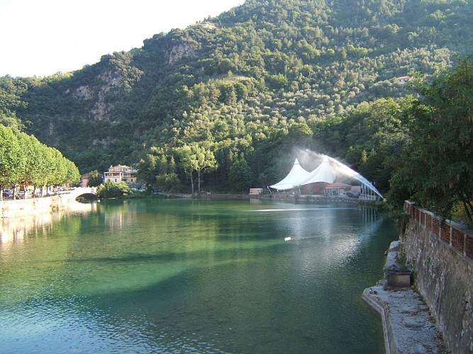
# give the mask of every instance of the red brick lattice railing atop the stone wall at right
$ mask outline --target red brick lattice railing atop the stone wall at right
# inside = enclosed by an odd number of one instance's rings
[[[416,219],[422,227],[430,230],[441,241],[473,261],[473,231],[448,219],[442,219],[433,212],[418,207],[413,202],[404,202],[404,211]]]

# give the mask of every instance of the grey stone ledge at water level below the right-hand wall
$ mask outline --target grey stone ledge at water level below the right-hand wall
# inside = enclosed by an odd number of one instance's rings
[[[391,243],[384,269],[397,266],[399,241]],[[381,314],[386,353],[450,353],[421,295],[411,287],[386,290],[384,281],[365,289],[363,299]]]

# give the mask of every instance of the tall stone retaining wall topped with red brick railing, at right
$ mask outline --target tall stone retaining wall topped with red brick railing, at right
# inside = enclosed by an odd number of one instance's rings
[[[413,267],[416,287],[452,353],[473,353],[472,236],[411,203],[406,202],[406,212],[411,218],[401,235],[402,252]],[[459,234],[463,241],[456,243]]]

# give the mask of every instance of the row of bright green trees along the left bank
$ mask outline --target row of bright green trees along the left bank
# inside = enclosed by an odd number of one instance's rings
[[[35,195],[38,188],[43,193],[50,186],[75,185],[79,181],[79,169],[57,149],[17,127],[0,125],[0,190],[33,186]]]

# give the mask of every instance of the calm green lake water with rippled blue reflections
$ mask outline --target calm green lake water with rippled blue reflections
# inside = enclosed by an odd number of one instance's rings
[[[4,220],[0,353],[384,353],[381,318],[361,295],[397,235],[373,209],[84,208]]]

